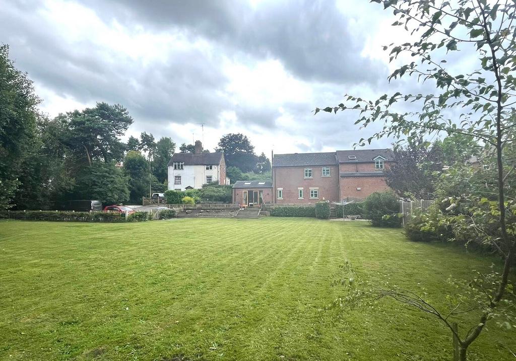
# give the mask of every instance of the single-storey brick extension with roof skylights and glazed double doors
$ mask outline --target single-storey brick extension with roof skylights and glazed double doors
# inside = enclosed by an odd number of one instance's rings
[[[244,207],[256,207],[272,203],[273,191],[270,180],[238,180],[233,185],[233,203]]]

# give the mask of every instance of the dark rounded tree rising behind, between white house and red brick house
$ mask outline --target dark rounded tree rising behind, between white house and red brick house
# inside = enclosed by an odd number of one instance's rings
[[[224,152],[228,167],[237,167],[243,172],[252,171],[256,167],[254,146],[247,136],[241,133],[227,134],[220,138],[218,145],[216,151]]]

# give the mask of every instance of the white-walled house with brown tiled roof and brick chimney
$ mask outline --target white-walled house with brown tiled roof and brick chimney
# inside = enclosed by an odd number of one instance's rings
[[[200,189],[203,184],[217,181],[229,184],[226,177],[224,153],[206,153],[202,143],[195,142],[193,153],[175,153],[168,162],[168,189]]]

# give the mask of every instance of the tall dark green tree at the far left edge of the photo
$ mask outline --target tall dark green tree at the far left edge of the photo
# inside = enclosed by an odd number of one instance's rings
[[[9,46],[0,44],[0,209],[9,207],[20,184],[39,102],[32,80],[14,67]]]

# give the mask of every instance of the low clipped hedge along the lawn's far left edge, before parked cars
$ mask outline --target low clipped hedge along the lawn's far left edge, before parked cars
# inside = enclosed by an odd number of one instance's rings
[[[22,221],[51,221],[51,222],[141,222],[152,219],[170,219],[176,215],[173,209],[155,212],[134,212],[127,216],[115,212],[59,212],[47,210],[7,210],[0,212],[0,219],[15,219]],[[157,216],[157,217],[156,217]]]

